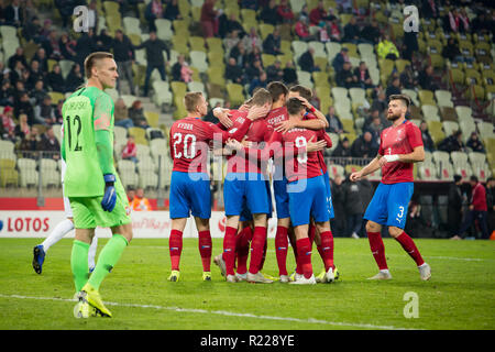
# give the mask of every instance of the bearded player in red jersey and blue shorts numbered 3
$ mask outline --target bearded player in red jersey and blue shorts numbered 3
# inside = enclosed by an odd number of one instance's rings
[[[413,257],[418,266],[421,279],[431,277],[430,266],[425,263],[411,238],[404,232],[407,208],[414,193],[414,163],[425,160],[421,132],[406,120],[410,98],[406,95],[393,95],[388,102],[387,120],[392,127],[382,131],[378,155],[363,169],[351,174],[355,182],[382,167],[382,183],[376,188],[364,219],[370,248],[380,272],[370,279],[391,279],[382,241],[382,226],[388,226],[388,233]]]

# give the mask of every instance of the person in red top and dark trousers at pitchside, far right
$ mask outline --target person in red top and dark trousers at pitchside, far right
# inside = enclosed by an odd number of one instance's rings
[[[451,238],[452,240],[461,240],[464,232],[474,223],[475,220],[477,220],[477,223],[482,230],[482,239],[487,240],[490,237],[486,224],[488,210],[486,204],[486,189],[474,175],[471,176],[470,184],[472,187],[470,212],[466,215],[459,233]]]

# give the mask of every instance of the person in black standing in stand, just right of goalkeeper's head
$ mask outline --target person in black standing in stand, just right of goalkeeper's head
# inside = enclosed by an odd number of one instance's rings
[[[122,79],[127,79],[131,95],[134,96],[134,78],[132,73],[132,63],[135,58],[134,47],[129,36],[124,35],[121,30],[116,31],[116,38],[112,42],[113,58],[117,63],[119,79],[117,80],[117,90],[122,91]]]

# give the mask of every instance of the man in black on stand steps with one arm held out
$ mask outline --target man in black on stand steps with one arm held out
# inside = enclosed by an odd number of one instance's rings
[[[166,80],[165,62],[163,57],[163,52],[167,53],[167,57],[170,57],[170,51],[168,45],[164,41],[156,36],[156,32],[150,32],[150,38],[141,45],[133,46],[134,50],[145,48],[146,50],[146,76],[144,78],[144,96],[147,97],[150,90],[150,78],[155,68],[160,72],[162,80]]]

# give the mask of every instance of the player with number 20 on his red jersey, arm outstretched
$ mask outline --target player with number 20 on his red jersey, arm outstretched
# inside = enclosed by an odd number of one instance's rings
[[[179,261],[183,249],[183,232],[189,215],[193,213],[199,233],[199,252],[204,266],[204,279],[210,280],[211,217],[210,180],[207,173],[209,144],[213,139],[224,143],[228,139],[241,140],[252,121],[260,119],[254,111],[248,114],[237,131],[223,131],[216,124],[200,118],[207,113],[208,103],[201,92],[188,92],[185,98],[188,117],[174,122],[170,128],[170,156],[174,167],[170,179],[172,230],[169,252],[172,282],[179,279]]]

